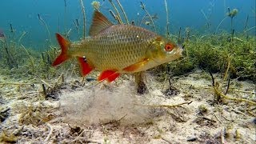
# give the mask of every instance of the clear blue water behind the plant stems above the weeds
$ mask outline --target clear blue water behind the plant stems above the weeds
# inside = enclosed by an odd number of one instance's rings
[[[191,30],[200,34],[214,34],[218,24],[226,17],[230,10],[238,9],[238,15],[234,17],[234,29],[236,33],[242,33],[249,16],[247,29],[255,26],[255,0],[166,0],[169,9],[170,33],[178,34],[179,27],[184,30],[190,27]],[[86,9],[86,31],[90,28],[91,16],[93,14],[92,0],[83,0]],[[110,16],[109,9],[113,10],[108,0],[103,2],[101,12],[114,22]],[[113,2],[116,2],[113,0]],[[130,21],[139,21],[145,15],[140,7],[140,0],[120,0],[126,10]],[[166,34],[166,9],[164,0],[142,0],[146,5],[146,10],[150,14],[158,14],[155,21],[158,34]],[[118,6],[118,5],[116,5]],[[26,35],[21,40],[24,46],[32,47],[36,50],[46,50],[50,45],[46,26],[38,19],[38,14],[46,22],[50,30],[52,44],[56,44],[54,34],[65,33],[70,30],[70,39],[78,41],[82,38],[82,12],[79,0],[1,0],[0,29],[4,31],[7,38],[20,38],[23,32]],[[209,18],[210,28],[206,26],[205,13]],[[121,10],[120,10],[121,13]],[[121,13],[122,14],[122,13]],[[80,24],[79,34],[75,29],[74,19],[78,19]],[[123,19],[124,20],[124,19]],[[14,28],[14,35],[10,33],[10,23]],[[144,25],[146,26],[146,25]],[[147,29],[152,28],[146,26]],[[226,18],[219,26],[218,33],[222,30],[230,31],[230,18]],[[255,28],[249,34],[255,34]],[[88,34],[87,34],[88,35]]]

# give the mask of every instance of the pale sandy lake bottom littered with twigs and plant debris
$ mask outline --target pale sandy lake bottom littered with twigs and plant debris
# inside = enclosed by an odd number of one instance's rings
[[[214,74],[218,90],[227,82]],[[17,143],[254,143],[255,84],[231,80],[216,100],[210,74],[195,70],[169,82],[146,74],[146,94],[134,78],[34,83],[0,78],[0,142]],[[42,83],[50,94],[42,94]],[[49,85],[49,86],[47,86]],[[94,86],[93,86],[94,85]],[[250,102],[240,101],[241,99]]]

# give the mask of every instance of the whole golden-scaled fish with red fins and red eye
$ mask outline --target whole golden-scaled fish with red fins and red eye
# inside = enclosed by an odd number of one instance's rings
[[[120,74],[145,71],[182,56],[182,47],[169,39],[139,26],[114,25],[97,10],[89,34],[74,43],[56,34],[61,53],[52,66],[75,57],[82,76],[99,70],[98,81],[113,82]]]

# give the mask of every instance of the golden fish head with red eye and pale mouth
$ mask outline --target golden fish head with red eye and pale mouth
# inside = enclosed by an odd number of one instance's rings
[[[158,66],[182,57],[182,50],[182,46],[178,46],[169,39],[157,37],[151,43],[146,55],[147,58],[154,61],[152,65]]]

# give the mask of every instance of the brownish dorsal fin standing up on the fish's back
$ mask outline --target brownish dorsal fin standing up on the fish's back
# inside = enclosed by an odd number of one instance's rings
[[[110,22],[102,13],[95,10],[93,22],[90,26],[90,36],[98,34],[100,31],[106,29],[109,26],[112,26],[113,23]]]

